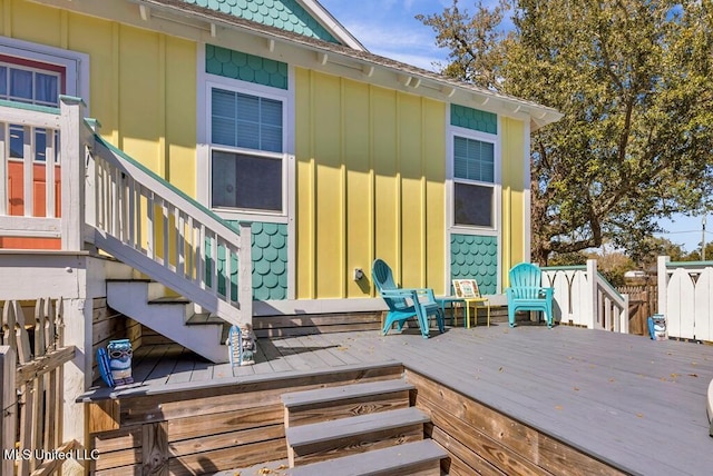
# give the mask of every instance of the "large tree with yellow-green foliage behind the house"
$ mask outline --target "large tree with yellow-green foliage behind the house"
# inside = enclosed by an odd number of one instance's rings
[[[451,50],[445,73],[565,115],[531,139],[533,259],[605,239],[647,255],[660,217],[711,192],[711,0],[514,3],[508,34],[505,3],[422,21]]]

